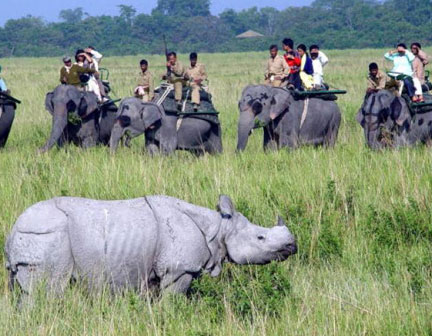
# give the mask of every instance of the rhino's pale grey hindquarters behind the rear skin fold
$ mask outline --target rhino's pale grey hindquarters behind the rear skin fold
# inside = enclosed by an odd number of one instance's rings
[[[23,214],[7,242],[11,289],[18,284],[31,295],[46,285],[49,292],[63,293],[74,266],[67,221],[52,203],[39,204]]]

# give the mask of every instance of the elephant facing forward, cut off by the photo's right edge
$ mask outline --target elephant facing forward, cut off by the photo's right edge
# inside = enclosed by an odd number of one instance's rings
[[[388,90],[365,97],[356,119],[372,149],[430,144],[432,139],[431,107],[413,113],[406,99]]]

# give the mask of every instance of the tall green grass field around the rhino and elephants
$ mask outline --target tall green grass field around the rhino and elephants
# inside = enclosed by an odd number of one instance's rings
[[[432,50],[429,50],[431,52]],[[260,267],[225,265],[204,276],[190,297],[161,301],[136,293],[112,297],[70,288],[15,308],[0,268],[4,335],[431,335],[432,157],[425,147],[372,152],[355,122],[370,61],[384,50],[331,51],[326,79],[349,94],[334,149],[264,153],[255,132],[235,154],[242,88],[262,79],[266,53],[202,55],[221,112],[224,154],[196,158],[144,153],[143,138],[110,156],[106,148],[70,146],[38,155],[51,119],[45,93],[57,85],[60,59],[2,59],[13,95],[22,99],[0,152],[0,246],[18,215],[60,195],[124,199],[166,194],[214,208],[228,194],[251,221],[272,226],[281,214],[299,253]],[[152,71],[163,58],[150,56]],[[186,59],[183,58],[185,61]],[[111,83],[130,96],[140,57],[108,58]],[[389,66],[389,65],[387,65]],[[4,264],[4,253],[0,253]]]

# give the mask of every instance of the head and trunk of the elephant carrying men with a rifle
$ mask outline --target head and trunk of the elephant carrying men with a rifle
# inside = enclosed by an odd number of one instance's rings
[[[116,151],[120,139],[127,132],[131,138],[144,134],[150,128],[158,128],[164,111],[153,103],[143,103],[138,98],[125,98],[119,106],[119,116],[111,132],[110,148]],[[160,127],[159,127],[160,128]]]

